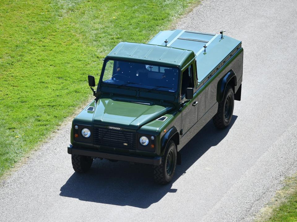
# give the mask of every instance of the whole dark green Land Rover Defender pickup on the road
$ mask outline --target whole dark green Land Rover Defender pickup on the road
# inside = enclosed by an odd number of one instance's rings
[[[170,30],[148,44],[121,42],[104,59],[96,97],[71,128],[73,169],[93,159],[153,165],[154,179],[172,180],[179,151],[213,119],[229,125],[240,100],[243,48],[228,36]]]

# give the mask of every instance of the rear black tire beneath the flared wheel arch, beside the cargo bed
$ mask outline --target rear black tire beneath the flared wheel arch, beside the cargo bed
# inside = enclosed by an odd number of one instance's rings
[[[229,126],[234,109],[234,92],[230,85],[226,86],[224,99],[219,103],[217,113],[213,117],[213,124],[218,129]]]

